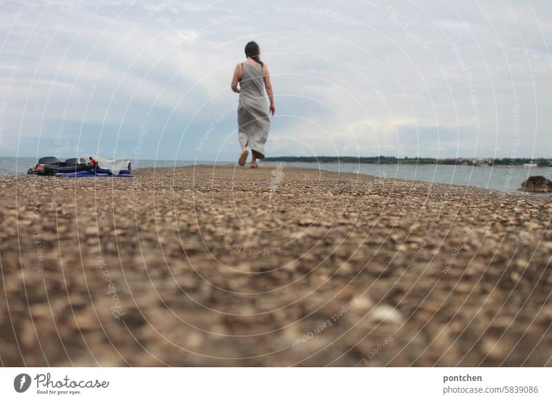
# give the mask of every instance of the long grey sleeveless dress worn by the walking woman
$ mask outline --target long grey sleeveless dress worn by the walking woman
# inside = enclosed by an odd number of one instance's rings
[[[263,68],[260,64],[242,63],[242,71],[237,108],[239,144],[250,147],[257,158],[264,158],[270,119],[264,96]]]

